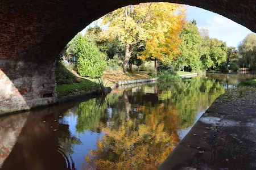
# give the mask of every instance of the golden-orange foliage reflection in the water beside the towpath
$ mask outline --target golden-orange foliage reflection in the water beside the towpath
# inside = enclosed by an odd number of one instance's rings
[[[84,169],[157,169],[179,140],[164,127],[163,122],[136,125],[129,120],[117,129],[104,128],[97,149],[85,157]]]

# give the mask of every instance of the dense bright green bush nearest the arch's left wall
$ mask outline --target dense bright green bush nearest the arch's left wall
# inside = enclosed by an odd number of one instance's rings
[[[87,37],[79,35],[75,48],[79,75],[99,78],[106,68],[106,56]]]

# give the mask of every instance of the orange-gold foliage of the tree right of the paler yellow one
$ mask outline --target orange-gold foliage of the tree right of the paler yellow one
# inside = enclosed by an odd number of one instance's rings
[[[184,24],[185,8],[174,4],[169,5],[169,3],[162,3],[154,8],[155,10],[152,12],[158,16],[158,19],[151,19],[146,48],[139,58],[151,58],[155,61],[159,59],[162,62],[170,63],[180,54],[181,39],[179,35]]]

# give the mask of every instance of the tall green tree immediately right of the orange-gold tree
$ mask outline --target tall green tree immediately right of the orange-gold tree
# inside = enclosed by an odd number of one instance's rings
[[[176,60],[179,69],[184,71],[184,67],[187,67],[189,70],[200,70],[202,65],[199,55],[201,37],[195,20],[185,22],[180,38],[182,39],[179,46],[181,54]]]

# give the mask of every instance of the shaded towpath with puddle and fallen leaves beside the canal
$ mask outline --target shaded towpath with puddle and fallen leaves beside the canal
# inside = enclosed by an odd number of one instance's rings
[[[218,97],[159,169],[256,169],[256,88]]]

